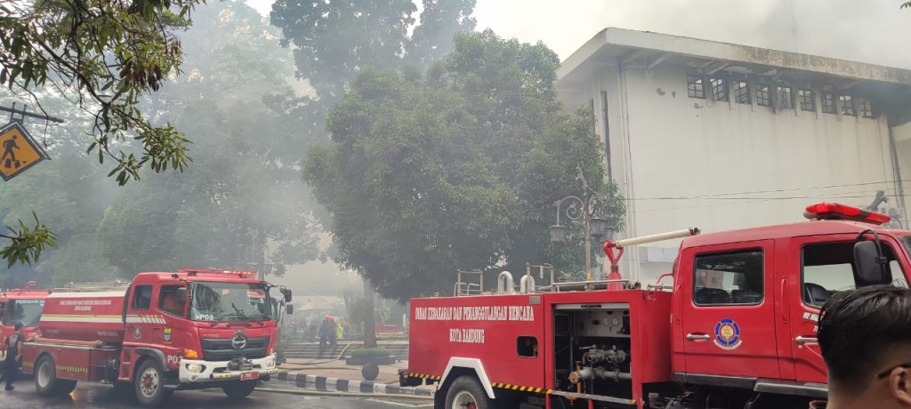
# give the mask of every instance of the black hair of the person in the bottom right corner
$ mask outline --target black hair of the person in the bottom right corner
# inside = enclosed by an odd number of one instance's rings
[[[835,294],[820,312],[818,339],[829,379],[848,393],[874,381],[896,345],[911,345],[911,290],[869,286]],[[831,386],[831,385],[830,385]]]

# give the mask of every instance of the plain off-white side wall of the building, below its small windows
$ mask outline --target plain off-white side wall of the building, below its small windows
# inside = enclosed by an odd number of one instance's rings
[[[885,116],[775,112],[691,98],[688,72],[604,66],[584,91],[561,94],[569,108],[594,99],[604,138],[601,91],[607,91],[611,174],[628,199],[621,237],[798,221],[808,204],[866,206],[877,189],[894,197]],[[818,90],[814,97],[819,111]],[[650,282],[670,271],[677,246],[679,240],[629,251],[621,271]]]

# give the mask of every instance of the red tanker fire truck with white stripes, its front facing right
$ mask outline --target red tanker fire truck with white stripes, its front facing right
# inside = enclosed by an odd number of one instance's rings
[[[158,406],[180,389],[251,394],[275,367],[278,326],[269,291],[245,271],[143,272],[126,291],[52,291],[41,337],[23,345],[39,394],[113,383]],[[278,287],[285,302],[291,291]]]

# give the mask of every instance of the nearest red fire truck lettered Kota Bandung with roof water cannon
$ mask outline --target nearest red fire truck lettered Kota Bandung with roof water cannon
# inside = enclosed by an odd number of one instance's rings
[[[625,247],[686,237],[673,271],[645,288],[523,277],[525,292],[510,282],[494,294],[412,300],[401,381],[437,383],[435,407],[445,409],[806,408],[827,395],[820,307],[835,291],[906,286],[911,231],[834,203],[804,215],[605,242],[616,271]]]

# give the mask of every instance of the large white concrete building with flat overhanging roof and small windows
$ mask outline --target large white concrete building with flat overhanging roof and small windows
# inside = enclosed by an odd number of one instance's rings
[[[819,201],[884,211],[911,198],[911,71],[608,28],[569,56],[558,90],[594,108],[635,237],[803,220]],[[906,215],[898,218],[908,228]],[[679,240],[624,255],[625,277],[670,271]]]

